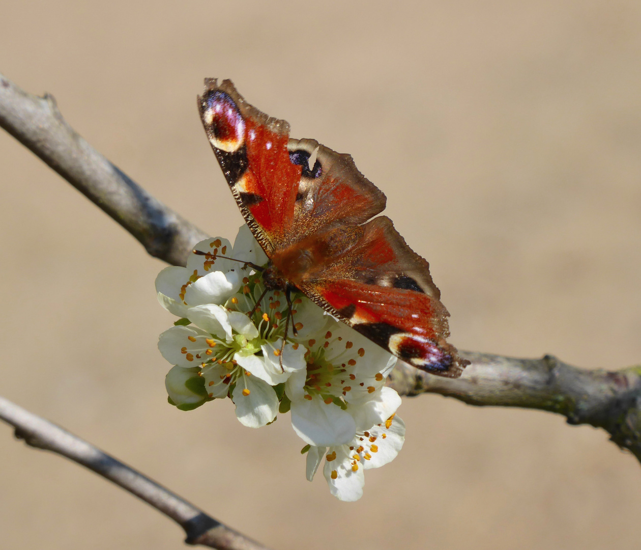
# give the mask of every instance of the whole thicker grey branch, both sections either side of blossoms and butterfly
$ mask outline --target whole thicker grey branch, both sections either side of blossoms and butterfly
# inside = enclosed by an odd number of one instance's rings
[[[184,265],[194,243],[205,237],[94,151],[63,121],[51,96],[31,96],[1,75],[0,125],[110,214],[150,254]],[[581,370],[552,356],[462,355],[472,364],[459,379],[429,375],[399,363],[388,384],[401,395],[440,393],[472,405],[560,413],[569,424],[605,429],[613,442],[641,461],[640,366],[607,372]]]

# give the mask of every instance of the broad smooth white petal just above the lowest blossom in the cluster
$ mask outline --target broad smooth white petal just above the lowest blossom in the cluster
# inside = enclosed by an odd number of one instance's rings
[[[333,403],[326,404],[320,397],[292,401],[291,410],[294,431],[310,445],[340,445],[351,441],[356,433],[352,416]]]

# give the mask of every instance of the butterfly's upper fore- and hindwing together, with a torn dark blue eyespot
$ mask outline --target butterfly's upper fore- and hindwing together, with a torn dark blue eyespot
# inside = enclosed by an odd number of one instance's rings
[[[231,81],[206,80],[198,108],[238,207],[268,256],[333,221],[363,223],[385,209],[385,195],[350,155],[289,139],[288,123],[249,105]]]

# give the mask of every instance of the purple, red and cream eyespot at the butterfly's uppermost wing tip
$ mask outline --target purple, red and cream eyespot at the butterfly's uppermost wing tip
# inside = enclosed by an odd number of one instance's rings
[[[203,98],[203,121],[212,145],[227,153],[245,142],[245,121],[233,99],[217,90]]]

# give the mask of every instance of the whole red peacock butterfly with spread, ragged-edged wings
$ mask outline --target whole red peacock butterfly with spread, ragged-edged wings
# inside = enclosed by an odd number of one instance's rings
[[[265,283],[299,289],[320,307],[417,368],[447,377],[467,361],[449,345],[447,310],[386,216],[385,195],[349,155],[290,139],[285,121],[252,107],[229,80],[198,99],[231,192],[269,257]]]

